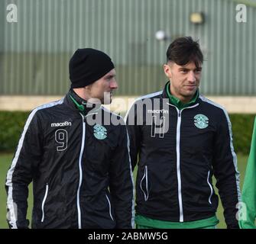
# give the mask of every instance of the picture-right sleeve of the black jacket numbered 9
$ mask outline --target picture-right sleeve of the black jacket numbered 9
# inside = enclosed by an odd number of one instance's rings
[[[134,226],[134,185],[128,152],[128,133],[121,127],[118,146],[112,155],[109,190],[115,210],[116,228],[131,229]]]

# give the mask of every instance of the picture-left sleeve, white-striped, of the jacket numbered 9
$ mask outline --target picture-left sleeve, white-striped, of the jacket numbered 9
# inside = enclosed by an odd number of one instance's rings
[[[41,134],[36,111],[32,111],[24,126],[15,156],[8,169],[5,189],[7,192],[7,221],[11,229],[28,228],[28,185],[33,170],[41,160]]]

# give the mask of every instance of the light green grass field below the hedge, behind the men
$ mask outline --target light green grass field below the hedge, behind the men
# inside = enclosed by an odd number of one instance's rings
[[[0,154],[0,229],[8,228],[8,225],[5,220],[5,217],[6,217],[5,177],[6,177],[6,172],[8,171],[9,165],[11,163],[11,158],[12,158],[11,154]],[[238,155],[238,170],[241,173],[240,187],[242,187],[242,182],[244,181],[247,159],[248,159],[248,156]],[[28,219],[31,219],[31,205],[32,205],[32,196],[31,196],[31,185],[30,185],[30,194],[29,194],[29,200],[28,200],[28,206],[29,206]],[[222,212],[223,212],[222,204],[219,204],[219,208],[217,212],[217,217],[219,218],[219,221],[220,221],[218,225],[219,229],[223,229],[226,227]]]

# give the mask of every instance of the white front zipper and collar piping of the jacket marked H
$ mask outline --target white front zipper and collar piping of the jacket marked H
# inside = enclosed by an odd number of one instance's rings
[[[169,103],[167,103],[169,104]],[[183,217],[183,201],[182,201],[182,191],[181,191],[181,175],[180,175],[180,124],[181,124],[181,112],[187,108],[195,108],[199,104],[195,104],[191,107],[183,108],[179,110],[173,104],[169,104],[170,106],[176,108],[178,117],[177,117],[177,132],[176,132],[176,153],[177,153],[177,181],[178,181],[178,199],[179,199],[179,207],[180,207],[180,222],[184,222]]]

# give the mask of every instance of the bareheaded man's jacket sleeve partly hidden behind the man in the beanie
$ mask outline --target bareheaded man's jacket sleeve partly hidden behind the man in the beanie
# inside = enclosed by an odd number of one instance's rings
[[[134,103],[125,116],[125,123],[130,140],[131,166],[134,170],[138,162],[138,154],[141,148],[141,127],[137,116],[137,104]]]

